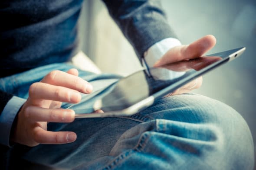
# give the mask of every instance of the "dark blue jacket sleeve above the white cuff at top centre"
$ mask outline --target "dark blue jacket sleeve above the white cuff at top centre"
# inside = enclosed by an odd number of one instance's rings
[[[176,38],[160,0],[103,0],[138,57],[164,38]]]

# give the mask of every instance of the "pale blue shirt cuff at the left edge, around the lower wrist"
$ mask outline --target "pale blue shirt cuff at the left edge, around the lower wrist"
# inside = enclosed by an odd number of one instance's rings
[[[25,102],[26,99],[13,96],[4,107],[0,115],[0,144],[10,147],[10,133],[13,121]]]

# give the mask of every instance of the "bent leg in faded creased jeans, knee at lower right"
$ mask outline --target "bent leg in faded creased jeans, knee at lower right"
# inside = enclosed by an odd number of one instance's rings
[[[199,95],[172,96],[135,115],[140,116],[149,121],[121,136],[109,169],[253,169],[249,128],[223,103]]]

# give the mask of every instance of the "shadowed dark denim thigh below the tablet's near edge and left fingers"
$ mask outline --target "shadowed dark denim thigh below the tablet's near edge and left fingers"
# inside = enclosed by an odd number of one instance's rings
[[[108,156],[116,141],[128,129],[140,122],[122,118],[76,119],[72,123],[49,123],[49,131],[72,131],[77,139],[69,144],[39,144],[30,148],[23,158],[59,168],[74,168],[80,164]]]

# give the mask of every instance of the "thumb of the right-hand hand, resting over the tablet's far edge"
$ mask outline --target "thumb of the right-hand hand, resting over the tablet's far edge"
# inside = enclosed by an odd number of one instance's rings
[[[216,38],[213,35],[206,35],[190,45],[176,46],[167,51],[167,53],[154,64],[154,67],[200,57],[213,48],[215,44]]]

